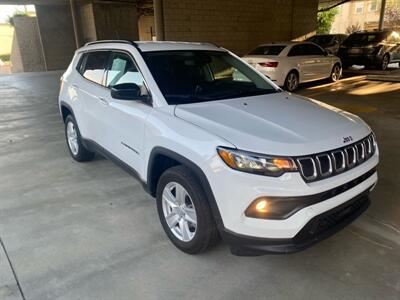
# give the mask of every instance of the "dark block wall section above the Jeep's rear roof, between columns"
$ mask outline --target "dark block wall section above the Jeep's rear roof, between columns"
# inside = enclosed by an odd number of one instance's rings
[[[138,12],[130,4],[93,3],[93,16],[98,40],[138,40]]]

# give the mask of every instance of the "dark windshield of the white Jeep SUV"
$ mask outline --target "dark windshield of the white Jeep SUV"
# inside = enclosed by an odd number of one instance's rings
[[[168,104],[276,93],[241,60],[223,51],[154,51],[143,57]]]

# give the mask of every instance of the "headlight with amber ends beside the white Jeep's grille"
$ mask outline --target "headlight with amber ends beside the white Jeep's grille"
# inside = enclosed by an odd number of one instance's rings
[[[275,157],[247,151],[217,148],[219,156],[232,169],[266,176],[281,176],[297,170],[296,164],[288,157]]]

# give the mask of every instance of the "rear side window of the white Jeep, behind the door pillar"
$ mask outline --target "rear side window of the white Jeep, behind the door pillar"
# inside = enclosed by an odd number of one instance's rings
[[[108,63],[110,52],[98,51],[86,53],[84,66],[82,65],[81,74],[86,79],[102,84],[103,74]]]

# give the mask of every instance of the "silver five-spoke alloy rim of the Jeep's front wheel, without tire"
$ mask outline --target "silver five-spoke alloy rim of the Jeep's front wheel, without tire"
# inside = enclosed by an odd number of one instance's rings
[[[162,210],[171,232],[180,241],[190,242],[197,229],[197,215],[186,189],[177,182],[168,183],[162,193]]]

